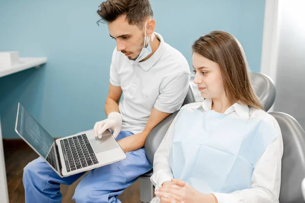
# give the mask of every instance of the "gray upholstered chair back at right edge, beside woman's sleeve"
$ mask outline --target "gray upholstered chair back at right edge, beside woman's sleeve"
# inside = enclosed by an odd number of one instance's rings
[[[269,114],[277,119],[284,143],[280,202],[305,202],[301,190],[301,182],[305,177],[305,131],[288,114],[280,112]]]

